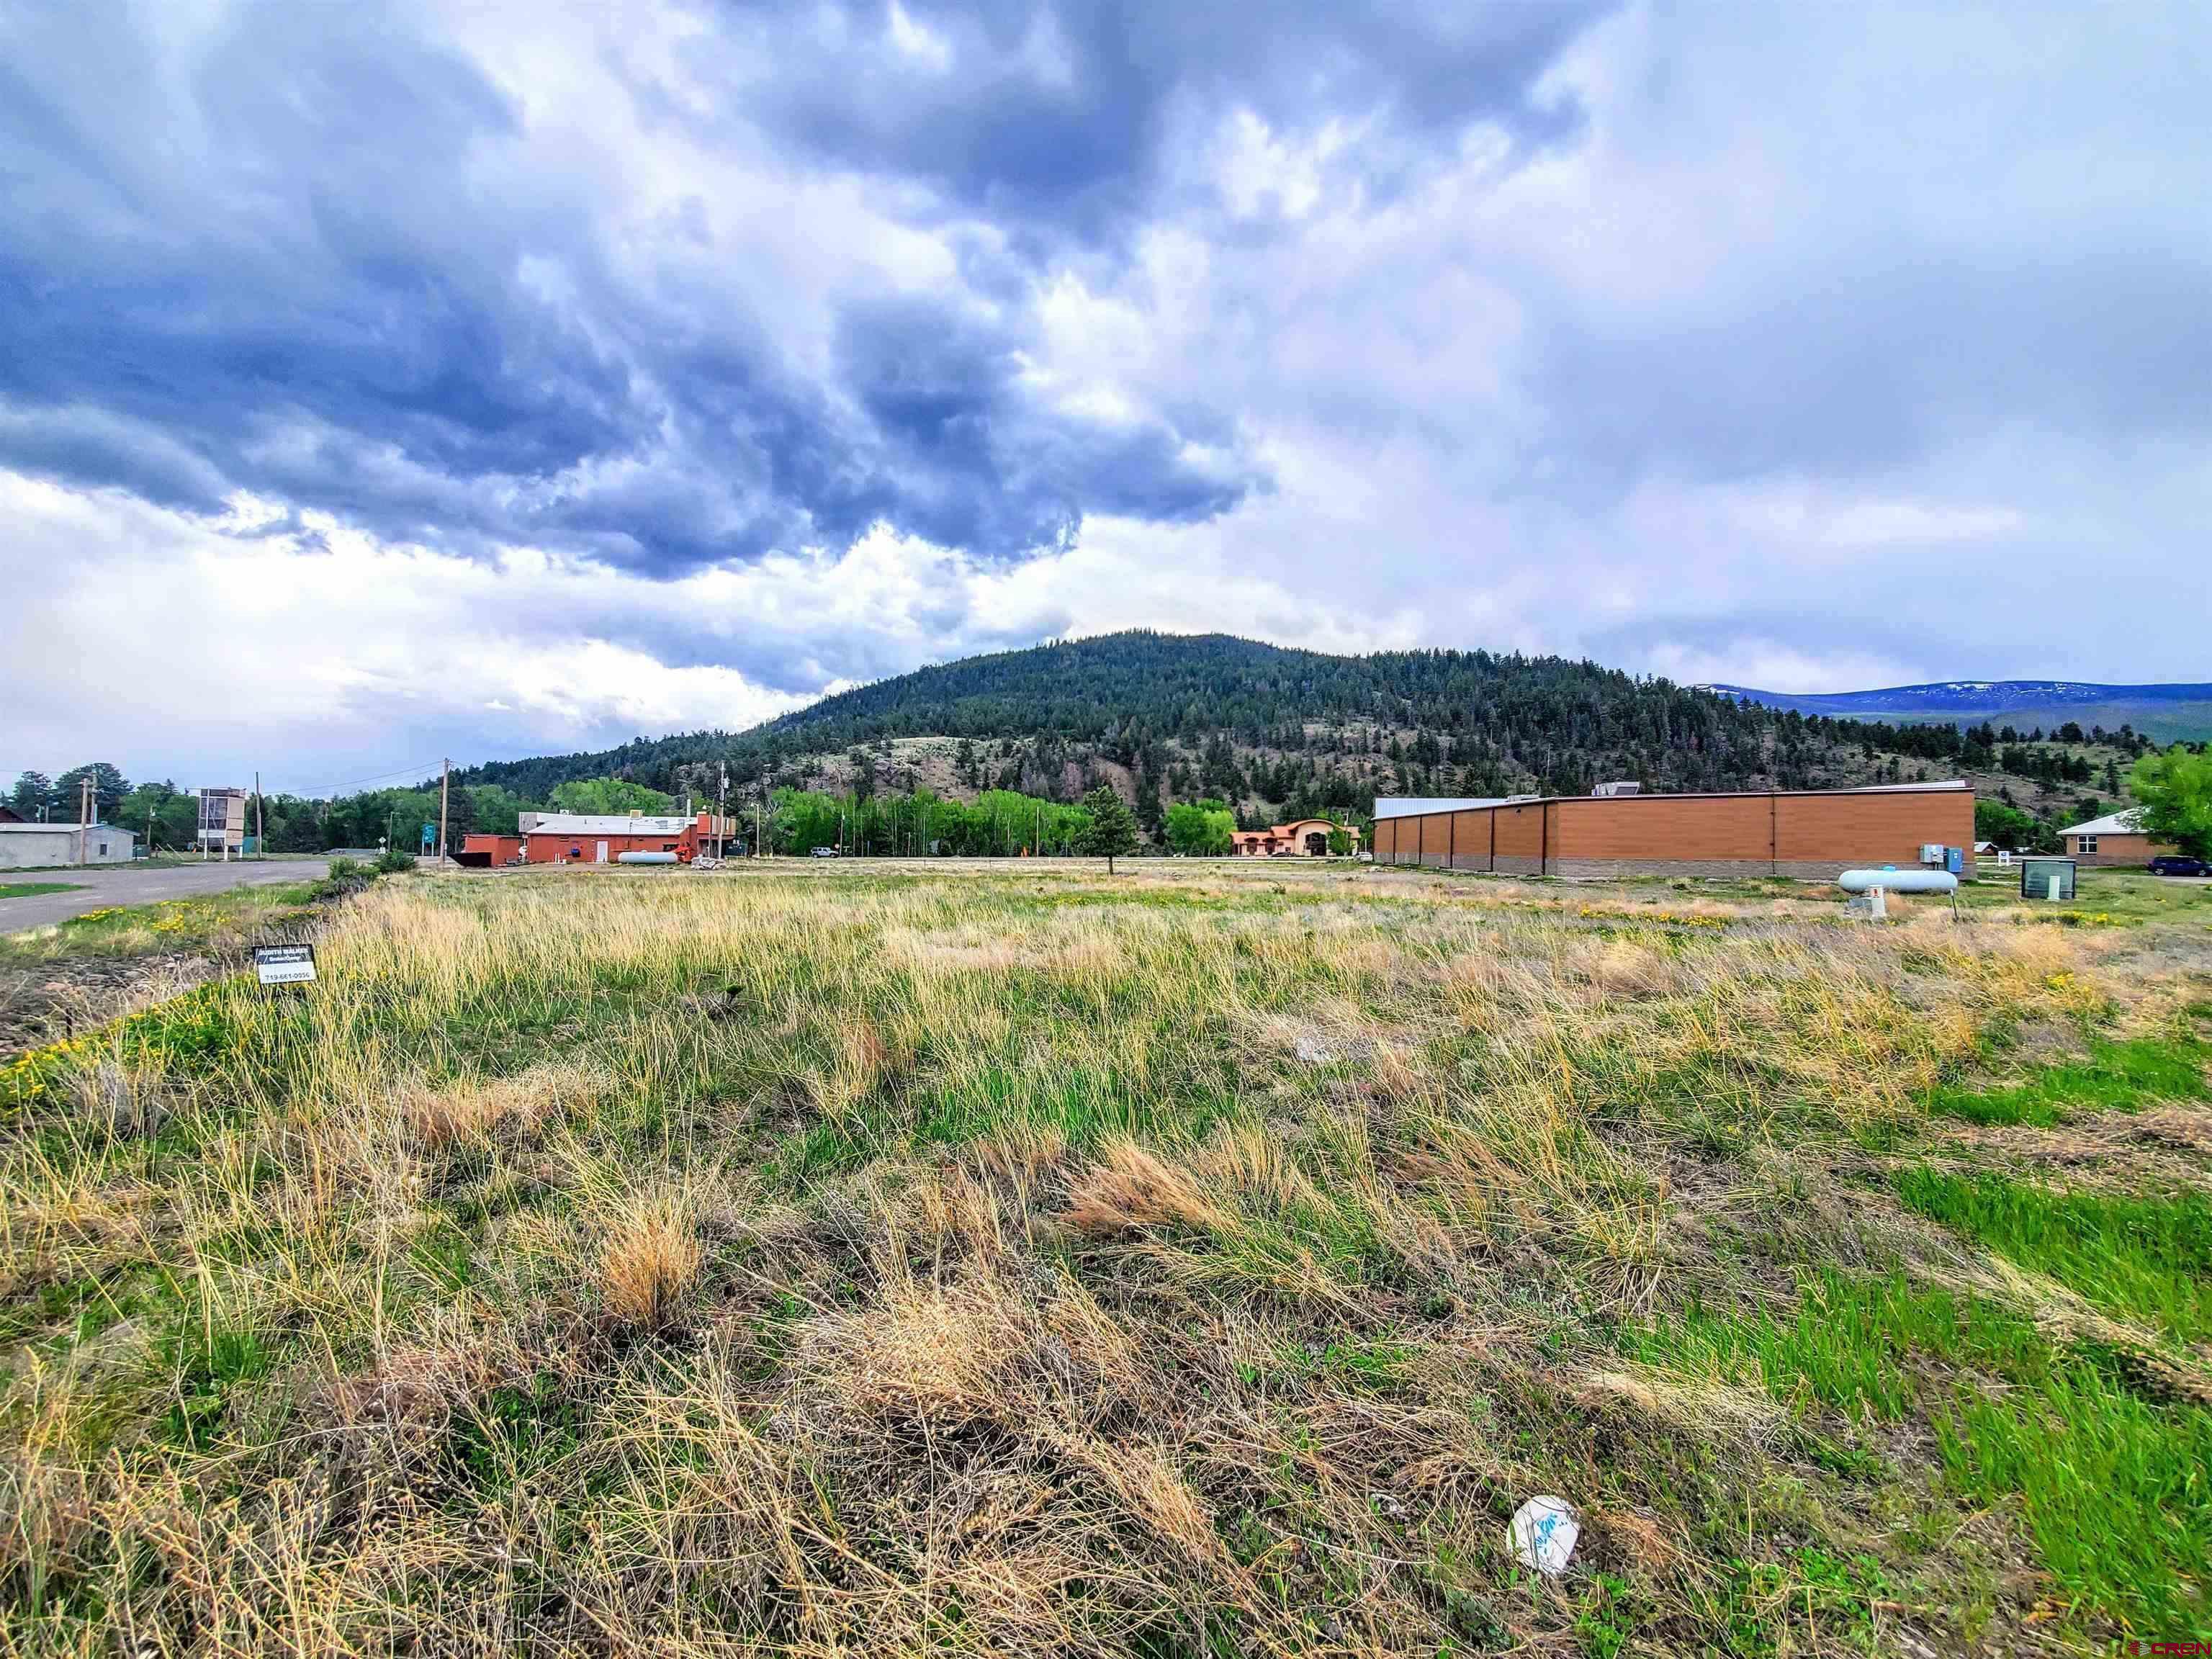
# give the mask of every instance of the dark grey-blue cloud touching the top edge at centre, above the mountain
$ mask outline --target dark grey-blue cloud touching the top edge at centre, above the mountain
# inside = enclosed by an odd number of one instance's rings
[[[1164,150],[1188,137],[1179,119],[1197,108],[1245,106],[1287,126],[1376,115],[1447,144],[1478,117],[1528,142],[1559,137],[1575,111],[1537,104],[1531,88],[1608,9],[1593,0],[902,7],[909,33],[933,51],[869,29],[860,20],[872,9],[823,29],[821,7],[790,0],[745,9],[776,64],[770,80],[745,84],[745,102],[812,153],[929,179],[958,210],[1046,239],[1097,237],[1150,206]]]

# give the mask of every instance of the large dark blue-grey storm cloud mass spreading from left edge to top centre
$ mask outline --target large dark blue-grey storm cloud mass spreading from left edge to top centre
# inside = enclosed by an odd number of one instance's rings
[[[816,7],[732,9],[706,13],[675,82],[626,71],[646,126],[734,144],[743,124],[794,166],[894,179],[909,195],[891,221],[995,226],[956,234],[953,290],[814,296],[814,356],[739,279],[717,294],[641,274],[617,246],[630,228],[533,153],[533,88],[495,84],[429,20],[243,4],[179,40],[119,4],[18,13],[0,38],[0,462],[648,575],[838,546],[878,520],[1000,560],[1066,546],[1086,513],[1225,511],[1265,487],[1234,409],[1104,420],[1024,378],[1044,250],[1121,250],[1166,188],[1177,111],[1551,131],[1528,88],[1588,13],[1073,11],[916,7],[900,27],[949,51],[931,66],[880,9],[836,27]],[[717,230],[692,197],[666,234]],[[721,234],[743,259],[752,228]]]

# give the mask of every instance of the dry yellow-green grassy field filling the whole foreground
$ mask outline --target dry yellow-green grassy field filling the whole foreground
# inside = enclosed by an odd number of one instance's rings
[[[307,993],[0,1062],[9,1652],[2212,1632],[2208,889],[779,863],[327,916]]]

